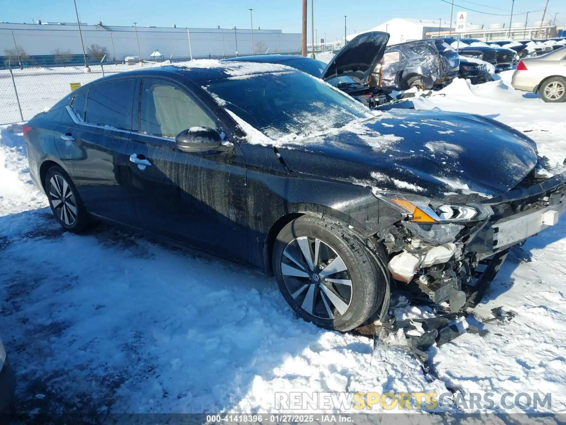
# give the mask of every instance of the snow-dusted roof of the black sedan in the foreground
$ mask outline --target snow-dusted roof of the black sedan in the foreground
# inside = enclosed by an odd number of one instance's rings
[[[104,80],[124,78],[125,76],[170,76],[181,75],[195,83],[208,80],[228,78],[230,76],[245,76],[255,74],[268,74],[281,71],[297,71],[289,66],[278,63],[255,63],[238,61],[218,61],[217,59],[198,59],[189,62],[178,62],[166,66],[153,66],[145,69],[127,71],[114,74]],[[100,82],[96,80],[96,82]]]

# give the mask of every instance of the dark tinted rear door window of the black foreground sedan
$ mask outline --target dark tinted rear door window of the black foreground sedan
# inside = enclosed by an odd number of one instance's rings
[[[135,80],[109,81],[88,91],[85,121],[130,130]]]

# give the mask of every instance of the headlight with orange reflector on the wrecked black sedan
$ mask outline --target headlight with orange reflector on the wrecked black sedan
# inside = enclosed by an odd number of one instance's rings
[[[480,203],[453,205],[451,203],[434,201],[423,196],[397,192],[380,192],[378,190],[374,190],[374,195],[396,205],[408,215],[409,221],[413,223],[435,224],[480,221],[493,214],[490,206]]]

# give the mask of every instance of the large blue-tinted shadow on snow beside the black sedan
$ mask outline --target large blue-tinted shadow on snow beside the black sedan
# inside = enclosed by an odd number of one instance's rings
[[[272,380],[308,385],[308,354],[371,352],[337,333],[320,342],[328,332],[256,270],[102,224],[61,232],[49,214],[0,217],[0,235],[21,228],[0,239],[0,316],[22,422],[217,413],[248,393],[241,408],[257,411],[273,403]]]

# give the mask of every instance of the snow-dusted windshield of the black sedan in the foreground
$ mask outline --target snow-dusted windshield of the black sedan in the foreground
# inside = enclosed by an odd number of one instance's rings
[[[274,140],[341,128],[373,116],[351,97],[295,71],[216,79],[203,87],[230,112]]]

